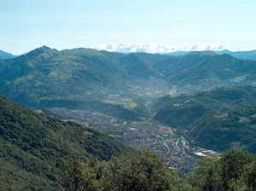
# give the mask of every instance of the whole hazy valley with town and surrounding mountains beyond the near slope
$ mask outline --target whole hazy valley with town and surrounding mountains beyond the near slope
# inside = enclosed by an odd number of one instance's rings
[[[182,173],[202,155],[255,151],[254,60],[212,51],[173,56],[43,46],[2,60],[0,68],[3,96],[151,148]]]

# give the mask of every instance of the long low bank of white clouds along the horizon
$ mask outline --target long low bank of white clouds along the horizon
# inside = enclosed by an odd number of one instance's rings
[[[230,49],[228,45],[222,43],[183,44],[173,45],[167,43],[108,43],[91,46],[92,49],[105,49],[113,52],[148,52],[148,53],[169,53],[176,51],[201,51],[201,50],[224,50]]]

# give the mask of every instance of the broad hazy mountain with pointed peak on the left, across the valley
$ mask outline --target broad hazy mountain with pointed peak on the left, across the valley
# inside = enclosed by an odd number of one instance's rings
[[[38,107],[45,100],[99,100],[106,96],[103,89],[116,94],[158,78],[151,65],[166,57],[43,46],[15,59],[0,60],[0,94],[26,107]]]

